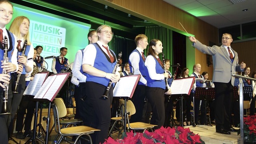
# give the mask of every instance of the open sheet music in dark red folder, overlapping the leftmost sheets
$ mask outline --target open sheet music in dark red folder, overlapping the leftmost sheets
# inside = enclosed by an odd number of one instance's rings
[[[46,79],[34,99],[48,99],[52,101],[54,96],[57,95],[58,91],[64,84],[64,80],[69,76],[70,73],[62,73],[60,75],[51,75]]]

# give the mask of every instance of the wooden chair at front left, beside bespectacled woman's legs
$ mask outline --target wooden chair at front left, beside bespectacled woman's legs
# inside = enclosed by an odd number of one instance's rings
[[[57,141],[57,144],[60,144],[60,142],[62,140],[65,140],[66,142],[69,142],[70,144],[72,144],[72,142],[66,140],[66,136],[78,136],[78,138],[76,139],[75,143],[78,141],[78,139],[83,136],[86,135],[88,136],[88,141],[90,141],[90,144],[92,144],[92,138],[90,137],[89,134],[93,134],[95,131],[100,131],[96,128],[91,128],[88,126],[74,126],[74,127],[65,127],[63,128],[60,127],[60,118],[66,116],[67,111],[66,111],[66,107],[64,103],[60,103],[60,99],[55,99],[54,103],[52,104],[52,108],[53,108],[53,115],[54,115],[54,128],[55,131],[60,134],[60,138]],[[61,105],[60,105],[61,104]],[[63,105],[64,107],[63,107]],[[65,137],[65,138],[64,138]]]

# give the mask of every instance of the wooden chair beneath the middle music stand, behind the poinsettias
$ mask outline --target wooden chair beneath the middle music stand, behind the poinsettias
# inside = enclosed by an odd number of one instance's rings
[[[143,130],[143,133],[145,132],[145,130],[148,129],[148,130],[151,130],[153,132],[152,128],[154,128],[154,126],[157,126],[157,125],[147,124],[147,123],[144,123],[144,122],[132,122],[132,123],[130,123],[129,115],[135,114],[135,112],[136,112],[136,109],[135,109],[134,104],[132,103],[132,101],[128,100],[126,102],[126,110],[124,109],[124,107],[125,107],[124,106],[124,100],[120,99],[119,102],[120,102],[120,105],[122,107],[122,120],[123,121],[124,121],[124,114],[126,114],[126,120],[127,120],[126,127],[127,127],[127,129]]]

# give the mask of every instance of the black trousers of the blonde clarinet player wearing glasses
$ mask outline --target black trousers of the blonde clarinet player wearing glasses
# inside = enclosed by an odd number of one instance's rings
[[[105,139],[108,138],[111,118],[110,105],[113,99],[113,87],[110,87],[108,99],[102,98],[102,95],[106,89],[104,85],[87,81],[85,83],[85,87],[86,99],[83,105],[85,105],[87,108],[83,108],[84,117],[81,114],[81,110],[80,115],[83,118],[84,125],[100,129],[100,131],[92,134],[92,142],[94,144],[99,144],[100,142],[103,143]]]

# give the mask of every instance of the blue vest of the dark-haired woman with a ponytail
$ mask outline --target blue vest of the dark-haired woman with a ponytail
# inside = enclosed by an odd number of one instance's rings
[[[164,69],[162,68],[162,66],[160,65],[160,63],[157,61],[157,59],[155,58],[156,61],[156,73],[158,74],[163,74],[164,73]],[[165,89],[165,82],[164,79],[162,80],[154,80],[151,79],[148,73],[148,69],[147,70],[147,75],[146,75],[146,80],[147,80],[147,86],[148,87],[159,87],[161,89]]]

